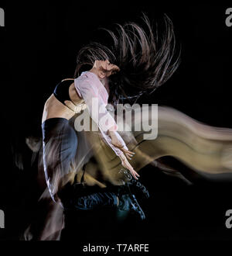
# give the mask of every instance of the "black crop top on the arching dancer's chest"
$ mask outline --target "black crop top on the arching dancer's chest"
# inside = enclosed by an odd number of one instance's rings
[[[63,80],[60,81],[56,88],[54,89],[53,95],[58,99],[61,103],[65,105],[66,100],[70,100],[69,88],[72,85],[73,80]]]

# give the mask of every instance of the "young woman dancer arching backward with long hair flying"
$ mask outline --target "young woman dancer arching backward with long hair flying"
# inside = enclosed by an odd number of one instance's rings
[[[99,145],[101,141],[104,141],[106,147],[110,146],[107,150],[114,152],[115,161],[120,159],[121,168],[128,169],[133,178],[138,179],[137,171],[130,164],[135,153],[128,150],[106,106],[107,103],[117,106],[118,103],[124,103],[127,100],[136,101],[139,96],[153,92],[176,71],[179,65],[179,55],[176,55],[172,22],[167,16],[164,16],[163,20],[164,29],[159,37],[154,35],[146,16],[143,16],[145,29],[134,22],[127,22],[124,26],[118,25],[117,33],[107,30],[113,40],[111,47],[101,43],[90,43],[80,49],[74,78],[61,81],[56,86],[53,95],[46,101],[42,119],[43,169],[49,195],[55,203],[51,207],[51,212],[57,213],[56,209],[59,207],[57,202],[62,202],[64,208],[74,207],[75,209],[94,209],[98,206],[118,206],[125,209],[125,206],[131,205],[140,216],[144,216],[135,196],[130,199],[123,192],[121,196],[111,191],[96,192],[84,198],[80,195],[80,198],[78,195],[73,198],[73,195],[67,192],[69,191],[67,188],[72,187],[70,183],[73,179],[70,174],[77,173],[78,175],[80,163],[77,159],[82,150],[77,139],[78,132],[70,126],[70,119],[87,108],[101,131],[101,134],[98,134]],[[97,112],[94,111],[96,109],[92,109],[93,99],[97,99],[98,102]],[[101,122],[102,119],[107,119],[107,125]],[[92,142],[94,143],[94,139]],[[129,144],[128,141],[127,143]],[[107,150],[102,151],[100,157],[98,152],[98,159],[104,157]],[[104,159],[107,159],[107,156]],[[104,164],[109,163],[110,161],[105,163],[103,161],[100,166],[104,167]],[[107,168],[108,173],[111,173],[114,168],[115,166]],[[113,177],[114,172],[112,171],[111,174]],[[127,182],[128,174],[122,175],[125,176],[122,180]],[[111,182],[110,176],[106,182],[115,185]],[[96,179],[92,178],[91,181],[93,185]],[[100,185],[101,182],[97,184]],[[137,187],[147,194],[141,184],[138,183]],[[67,199],[69,197],[71,199]],[[58,214],[53,214],[53,220],[51,216],[49,214],[50,219],[46,220],[47,223],[53,223]],[[60,220],[60,217],[58,219]],[[52,234],[57,234],[61,229],[60,226],[55,228],[56,225],[46,224],[44,226],[46,227],[40,239],[44,237],[55,239],[57,236]],[[49,230],[49,227],[53,227],[52,230]]]

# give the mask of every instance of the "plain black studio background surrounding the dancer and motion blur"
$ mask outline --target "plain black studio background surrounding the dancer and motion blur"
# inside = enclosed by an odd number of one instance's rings
[[[33,175],[13,167],[12,138],[39,133],[43,104],[58,81],[73,76],[77,52],[97,27],[137,21],[142,11],[156,19],[165,12],[182,45],[182,62],[173,77],[141,101],[172,106],[212,126],[232,128],[232,27],[225,24],[230,5],[135,2],[0,2],[1,148],[0,209],[5,210],[2,240],[19,239],[36,195]],[[141,181],[151,198],[142,203],[145,222],[131,217],[112,229],[102,221],[98,240],[230,240],[225,212],[232,207],[232,178],[206,178],[187,186],[145,168]],[[30,202],[30,203],[29,203]],[[91,231],[90,231],[91,232]],[[68,230],[67,230],[68,233]],[[81,236],[78,228],[73,236]],[[90,237],[93,237],[90,235]],[[83,240],[88,241],[87,234]]]

